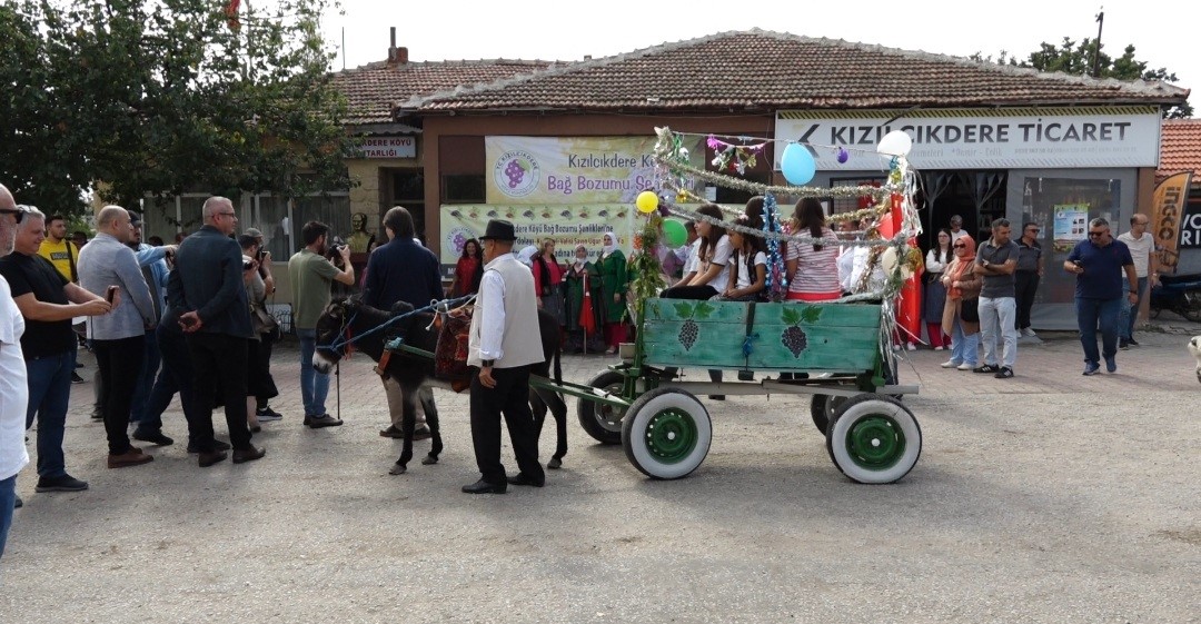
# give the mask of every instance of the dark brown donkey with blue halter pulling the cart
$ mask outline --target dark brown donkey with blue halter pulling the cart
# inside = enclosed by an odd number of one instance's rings
[[[339,299],[330,303],[317,320],[317,352],[313,355],[312,366],[321,373],[329,373],[346,355],[347,345],[334,347],[336,343],[351,340],[353,345],[366,353],[377,363],[384,353],[386,343],[400,335],[405,344],[416,349],[434,352],[437,347],[438,335],[434,329],[426,329],[434,320],[431,313],[414,314],[407,319],[398,321],[382,332],[363,335],[364,333],[380,327],[390,319],[413,310],[413,307],[398,302],[392,313],[372,308],[359,301],[358,297]],[[542,346],[545,361],[534,364],[532,373],[549,378],[551,362],[555,367],[555,381],[562,379],[560,362],[561,334],[558,322],[554,316],[538,310],[538,326],[542,333]],[[355,338],[362,337],[362,338]],[[413,429],[417,424],[417,391],[422,385],[434,381],[431,385],[449,387],[444,382],[434,380],[434,359],[422,357],[406,351],[392,353],[387,359],[383,374],[394,379],[404,392],[401,433],[404,434],[404,447],[400,458],[392,469],[392,474],[400,475],[407,470],[408,462],[413,458]],[[548,468],[562,466],[563,456],[567,454],[567,405],[557,392],[546,390],[533,390],[530,393],[534,414],[537,430],[542,432],[549,408],[556,421],[557,445],[555,454],[546,464]],[[442,452],[442,432],[438,424],[437,409],[432,400],[423,405],[425,418],[430,427],[431,447],[428,456],[422,459],[423,464],[436,464],[438,454]]]

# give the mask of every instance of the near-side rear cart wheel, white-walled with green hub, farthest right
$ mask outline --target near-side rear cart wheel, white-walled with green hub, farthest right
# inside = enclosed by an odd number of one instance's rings
[[[830,421],[826,451],[842,474],[860,483],[891,483],[921,454],[921,428],[909,408],[879,394],[843,403]]]

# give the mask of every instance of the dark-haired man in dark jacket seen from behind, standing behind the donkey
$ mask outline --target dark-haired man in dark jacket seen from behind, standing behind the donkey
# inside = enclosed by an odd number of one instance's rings
[[[363,303],[381,310],[390,310],[401,301],[413,308],[424,308],[431,299],[441,299],[443,290],[438,258],[413,239],[413,215],[398,206],[384,214],[383,226],[389,242],[376,248],[368,258]],[[400,427],[404,418],[404,393],[400,384],[384,378],[383,388],[388,396],[392,424],[381,430],[380,435],[402,438]],[[414,440],[430,436],[430,429],[425,426],[425,405],[434,409],[434,393],[428,387],[418,392]]]

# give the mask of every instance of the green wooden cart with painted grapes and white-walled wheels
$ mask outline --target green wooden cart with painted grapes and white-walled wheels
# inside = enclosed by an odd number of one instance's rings
[[[649,299],[633,353],[586,386],[549,384],[579,398],[580,424],[652,479],[680,479],[709,453],[705,394],[811,394],[811,417],[835,465],[864,483],[890,483],[921,454],[921,429],[890,384],[879,303],[740,303]],[[680,368],[737,372],[739,381],[683,381]],[[805,373],[775,379],[772,373]],[[727,375],[729,376],[729,375]]]

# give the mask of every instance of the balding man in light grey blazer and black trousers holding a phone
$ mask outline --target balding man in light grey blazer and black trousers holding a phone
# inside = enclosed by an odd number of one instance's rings
[[[96,215],[97,234],[79,251],[79,285],[104,293],[116,303],[121,293],[127,305],[115,305],[112,314],[88,322],[96,363],[100,368],[100,396],[104,398],[104,432],[108,434],[108,468],[125,468],[154,459],[130,445],[130,408],[145,359],[145,333],[159,322],[150,289],[138,260],[126,243],[133,236],[130,213],[120,206],[106,206]]]

